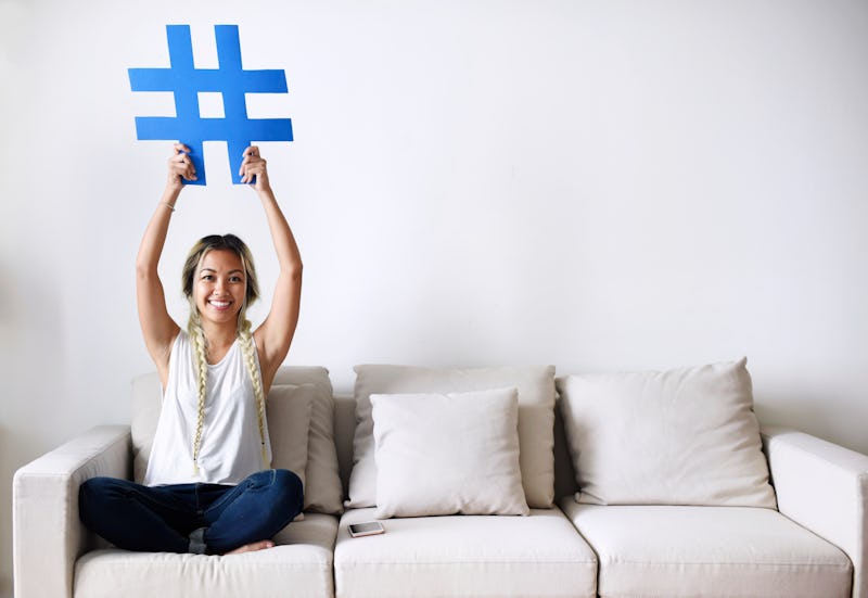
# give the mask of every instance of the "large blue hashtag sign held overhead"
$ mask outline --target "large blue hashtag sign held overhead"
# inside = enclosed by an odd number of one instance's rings
[[[205,185],[203,141],[226,141],[232,182],[241,183],[238,171],[242,153],[253,141],[292,141],[289,118],[248,118],[244,93],[286,93],[283,71],[244,71],[237,25],[215,25],[219,68],[195,68],[189,25],[166,25],[169,68],[129,68],[132,91],[171,91],[175,117],[137,116],[138,139],[178,140],[190,148],[197,180]],[[202,118],[199,92],[220,92],[224,118]],[[187,181],[186,181],[187,182]]]

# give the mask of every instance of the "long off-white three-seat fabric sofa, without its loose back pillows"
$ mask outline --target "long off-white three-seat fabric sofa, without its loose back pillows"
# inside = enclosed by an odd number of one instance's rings
[[[308,370],[283,368],[276,386],[302,387],[310,382]],[[319,370],[314,374],[326,371]],[[327,478],[337,475],[339,463],[337,492],[348,496],[357,400],[331,396],[330,383],[320,383],[319,391],[319,398],[311,400],[321,404],[310,407],[306,488],[326,498],[281,532],[273,549],[233,557],[133,554],[107,546],[84,529],[77,497],[81,482],[91,476],[132,479],[141,469],[149,449],[141,430],[154,425],[159,390],[155,374],[137,379],[132,430],[94,428],[16,472],[16,598],[868,598],[864,455],[796,431],[768,428],[762,442],[777,509],[579,504],[574,497],[575,454],[565,437],[562,409],[552,409],[551,508],[531,508],[527,517],[395,518],[384,521],[383,535],[350,538],[347,524],[374,519],[374,507],[337,514],[315,511],[340,509],[335,497],[327,496],[333,488],[326,489],[334,485]],[[319,416],[333,415],[333,421],[323,425],[320,417],[317,422],[318,408]],[[283,424],[271,411],[269,425],[272,438],[279,436]],[[320,441],[333,433],[332,455],[328,443],[314,446],[318,427]],[[336,459],[333,471],[311,470],[316,451],[317,459]],[[522,473],[527,476],[524,461]],[[352,504],[352,492],[349,497]]]

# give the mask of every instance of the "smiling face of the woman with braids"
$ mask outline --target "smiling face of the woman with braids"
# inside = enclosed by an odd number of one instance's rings
[[[241,258],[228,250],[206,253],[199,263],[193,292],[203,320],[235,322],[247,292]]]

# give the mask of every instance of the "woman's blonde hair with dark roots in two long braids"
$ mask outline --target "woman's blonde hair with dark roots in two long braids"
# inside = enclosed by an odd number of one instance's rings
[[[251,333],[251,322],[246,317],[247,307],[259,297],[259,283],[256,279],[256,268],[253,265],[253,255],[244,242],[234,234],[212,234],[200,239],[184,262],[181,273],[181,288],[187,301],[190,303],[190,319],[187,322],[187,332],[193,347],[193,367],[196,372],[199,392],[196,429],[193,437],[193,473],[199,475],[199,453],[202,447],[202,432],[205,427],[205,398],[208,382],[208,341],[202,328],[202,316],[199,313],[194,296],[195,275],[199,265],[208,252],[215,250],[230,251],[241,259],[246,279],[244,302],[238,314],[238,340],[244,357],[244,365],[251,377],[253,394],[256,399],[256,415],[259,423],[259,441],[263,447],[263,465],[270,467],[268,450],[265,444],[265,391],[259,368],[256,367],[256,345]]]

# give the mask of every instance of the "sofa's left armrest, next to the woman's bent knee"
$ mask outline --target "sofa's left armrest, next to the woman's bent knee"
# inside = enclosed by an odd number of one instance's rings
[[[78,519],[78,487],[98,475],[129,479],[131,462],[129,425],[100,425],[15,472],[15,598],[73,595],[75,561],[88,542]]]

